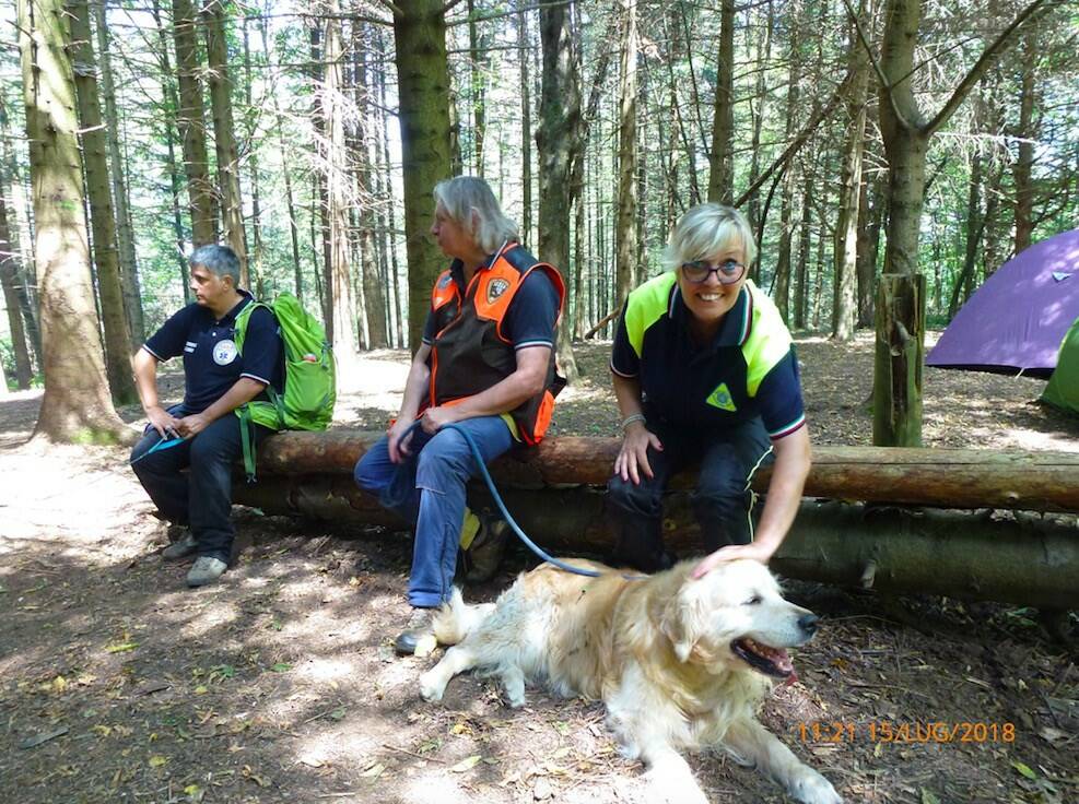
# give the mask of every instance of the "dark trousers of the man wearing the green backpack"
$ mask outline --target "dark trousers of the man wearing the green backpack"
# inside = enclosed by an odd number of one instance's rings
[[[172,413],[184,415],[183,411]],[[244,451],[239,425],[239,417],[230,413],[195,438],[152,453],[161,436],[151,427],[131,450],[131,469],[161,516],[190,525],[199,555],[226,563],[236,535],[228,517],[233,464]],[[253,425],[251,430],[256,445],[273,433],[260,425]]]

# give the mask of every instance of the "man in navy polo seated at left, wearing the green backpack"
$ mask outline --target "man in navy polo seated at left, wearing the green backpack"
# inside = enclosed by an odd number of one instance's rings
[[[162,557],[198,554],[187,586],[213,583],[227,569],[235,529],[233,463],[243,452],[244,426],[234,411],[282,390],[282,344],[266,307],[250,312],[237,347],[236,318],[255,303],[239,287],[239,260],[227,246],[202,246],[188,258],[195,302],[175,314],[134,356],[134,378],[150,424],[131,452],[131,468],[162,519],[189,527]],[[157,397],[157,364],[184,356],[184,401],[167,411]],[[273,430],[251,423],[260,442]],[[188,470],[187,472],[183,470]]]

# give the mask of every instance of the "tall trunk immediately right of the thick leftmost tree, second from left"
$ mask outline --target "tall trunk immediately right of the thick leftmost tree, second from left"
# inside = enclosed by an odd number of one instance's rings
[[[97,292],[102,306],[105,333],[105,369],[113,402],[134,404],[139,395],[131,375],[131,335],[124,312],[124,288],[120,283],[119,253],[116,248],[116,218],[108,179],[108,155],[105,128],[102,125],[97,96],[97,64],[91,44],[90,7],[86,0],[64,3],[71,31],[70,58],[79,98],[79,121],[82,125],[82,158],[86,170],[86,193],[90,197],[90,220],[93,230],[93,257],[97,268]]]

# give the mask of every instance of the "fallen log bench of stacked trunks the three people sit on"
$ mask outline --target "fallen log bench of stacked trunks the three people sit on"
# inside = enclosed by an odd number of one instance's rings
[[[267,513],[404,528],[355,487],[352,470],[380,433],[283,433],[258,453],[258,482],[237,503]],[[491,466],[506,506],[548,551],[606,553],[603,487],[619,442],[559,436]],[[754,478],[767,490],[767,471]],[[691,472],[671,484],[667,541],[701,549],[689,508]],[[1079,454],[816,447],[807,499],[773,567],[789,578],[881,590],[1079,607]],[[491,506],[482,482],[469,489]],[[959,510],[965,509],[965,510]],[[977,510],[981,509],[981,510]],[[999,513],[1010,509],[1015,515]]]

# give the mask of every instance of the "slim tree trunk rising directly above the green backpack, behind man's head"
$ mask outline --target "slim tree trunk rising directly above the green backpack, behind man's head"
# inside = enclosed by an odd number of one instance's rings
[[[224,238],[239,258],[239,284],[250,288],[247,264],[247,234],[244,229],[244,198],[239,191],[239,150],[232,116],[232,80],[228,76],[228,48],[225,43],[225,0],[210,0],[202,7],[206,23],[207,83],[213,114],[213,144],[218,156],[218,187]]]

